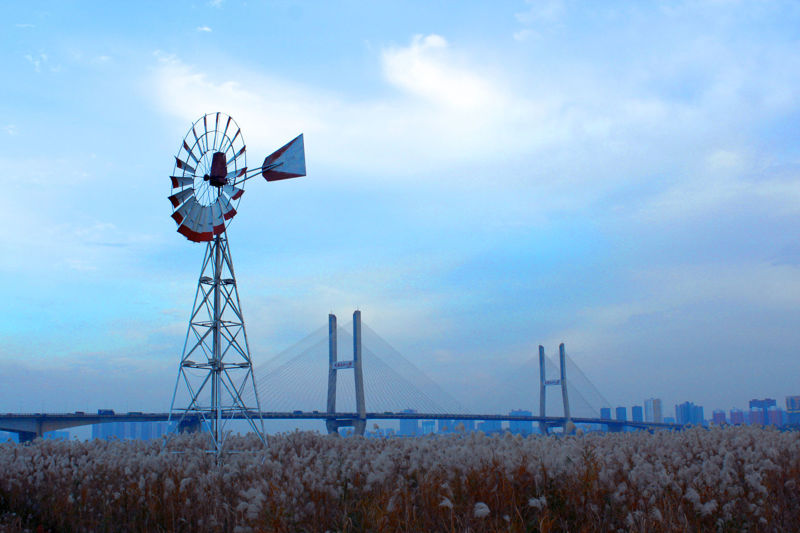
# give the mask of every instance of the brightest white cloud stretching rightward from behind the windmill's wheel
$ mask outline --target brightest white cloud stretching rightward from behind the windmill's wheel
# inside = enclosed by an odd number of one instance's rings
[[[161,66],[147,87],[168,114],[188,124],[202,112],[225,111],[239,121],[249,145],[264,151],[305,132],[313,146],[309,157],[347,169],[353,179],[430,182],[432,173],[453,162],[532,153],[567,133],[552,97],[529,101],[509,94],[438,36],[386,49],[383,72],[396,91],[371,99],[252,71],[217,81],[219,72],[211,78],[174,56],[157,55]]]

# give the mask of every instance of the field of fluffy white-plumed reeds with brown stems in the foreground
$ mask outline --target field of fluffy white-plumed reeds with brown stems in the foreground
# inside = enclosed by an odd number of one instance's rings
[[[798,531],[800,434],[0,445],[5,531]]]

